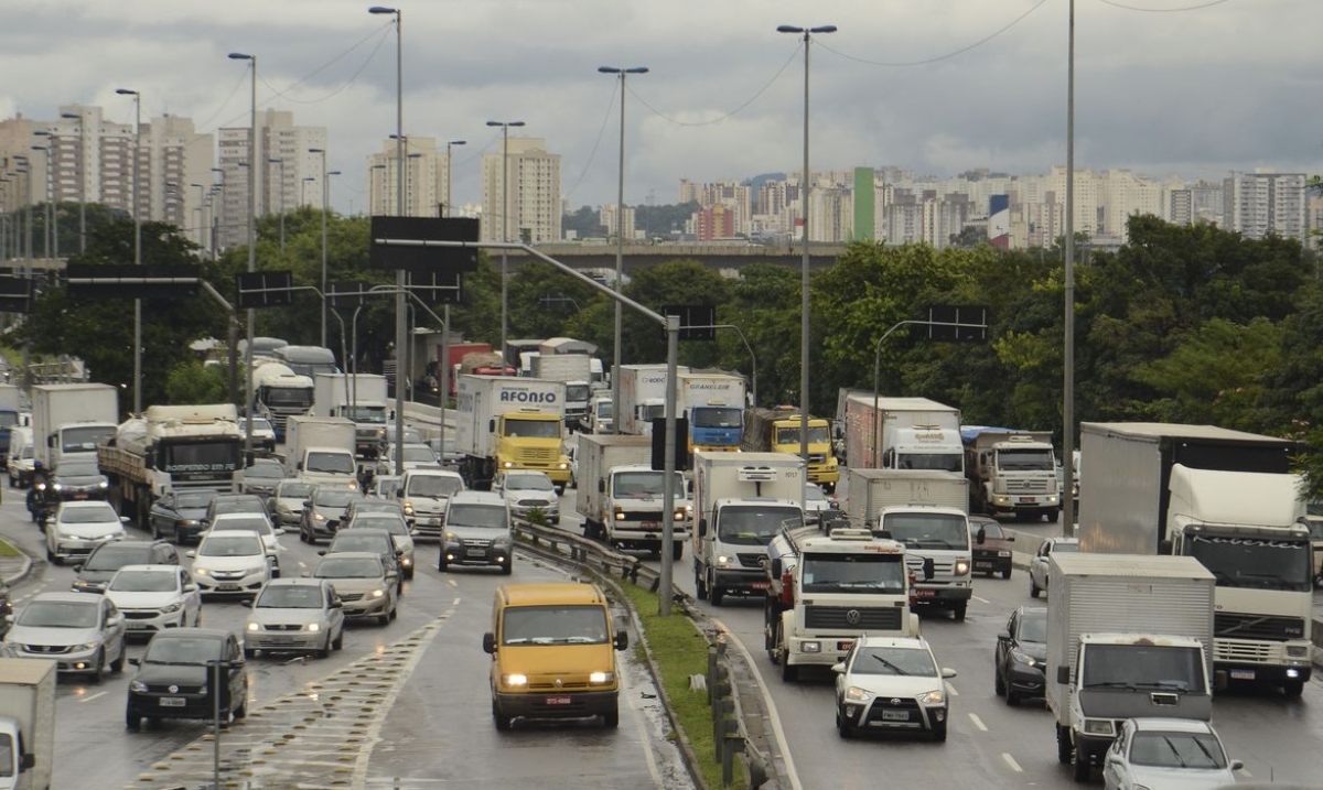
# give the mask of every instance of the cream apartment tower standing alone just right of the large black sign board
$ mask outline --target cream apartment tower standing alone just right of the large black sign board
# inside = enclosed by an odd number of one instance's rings
[[[501,240],[503,227],[512,242],[560,240],[561,155],[549,153],[541,137],[511,137],[503,161],[505,148],[503,141],[483,155],[483,240]]]

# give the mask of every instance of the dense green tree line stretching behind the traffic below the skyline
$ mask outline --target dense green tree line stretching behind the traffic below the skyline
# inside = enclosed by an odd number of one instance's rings
[[[368,219],[336,214],[328,222],[328,279],[388,285],[393,275],[369,269]],[[1074,268],[1076,417],[1212,423],[1287,436],[1323,447],[1323,284],[1318,259],[1299,243],[1245,239],[1212,226],[1175,226],[1135,217],[1129,243],[1117,252],[1088,251]],[[75,260],[79,260],[75,258]],[[86,263],[132,260],[132,225],[122,218],[98,226]],[[234,275],[247,252],[234,248],[216,262],[175,229],[143,227],[146,263],[192,262],[217,291],[234,299]],[[302,209],[263,218],[262,269],[292,269],[296,284],[320,283],[321,215]],[[799,402],[799,269],[755,263],[728,279],[693,260],[632,271],[631,299],[662,305],[714,305],[716,342],[681,343],[680,362],[753,374],[762,404]],[[814,411],[833,415],[841,387],[884,395],[927,396],[959,406],[971,424],[1062,429],[1064,266],[1060,248],[1002,251],[987,244],[934,250],[860,243],[835,266],[815,272],[811,289],[811,392]],[[545,263],[523,263],[509,281],[509,337],[572,336],[598,343],[610,359],[614,306],[586,284]],[[36,353],[83,357],[98,380],[130,386],[131,309],[126,301],[75,303],[50,289],[9,342]],[[913,326],[933,304],[990,308],[990,342],[935,343]],[[258,333],[316,343],[319,300],[300,293],[291,308],[259,310]],[[439,309],[438,309],[439,312]],[[352,310],[341,310],[345,333]],[[464,276],[463,303],[452,329],[467,340],[500,338],[499,266],[480,256]],[[622,359],[664,359],[658,326],[624,312]],[[419,324],[430,320],[419,318]],[[213,398],[221,374],[191,358],[189,341],[225,338],[228,317],[205,296],[144,304],[144,403]],[[340,351],[332,318],[329,345]],[[378,370],[394,337],[393,299],[374,300],[357,320],[361,370]],[[749,349],[745,346],[749,343]],[[352,345],[352,338],[347,345]],[[751,350],[751,355],[750,355]],[[210,377],[210,378],[208,378]],[[224,390],[221,390],[224,392]],[[126,395],[126,402],[131,402]],[[1323,481],[1323,456],[1301,462]]]

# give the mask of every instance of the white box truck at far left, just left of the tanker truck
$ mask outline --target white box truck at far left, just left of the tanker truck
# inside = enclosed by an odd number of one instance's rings
[[[91,457],[119,427],[119,392],[110,384],[32,387],[33,457],[46,469],[70,454]]]

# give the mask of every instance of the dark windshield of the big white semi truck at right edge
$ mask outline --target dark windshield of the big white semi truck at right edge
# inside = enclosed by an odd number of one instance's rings
[[[1217,577],[1217,587],[1312,589],[1310,544],[1304,540],[1193,535],[1187,551]]]

